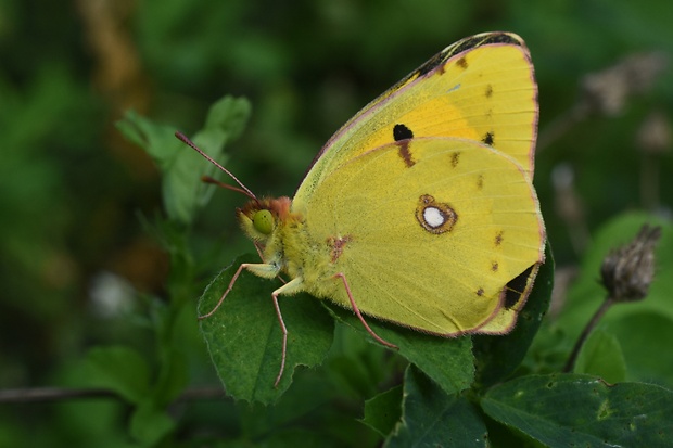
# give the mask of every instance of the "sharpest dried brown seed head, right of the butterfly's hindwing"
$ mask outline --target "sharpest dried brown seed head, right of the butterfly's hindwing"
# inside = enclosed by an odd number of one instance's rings
[[[636,302],[647,296],[655,278],[655,247],[661,227],[645,225],[627,245],[610,253],[602,261],[600,273],[614,302]]]

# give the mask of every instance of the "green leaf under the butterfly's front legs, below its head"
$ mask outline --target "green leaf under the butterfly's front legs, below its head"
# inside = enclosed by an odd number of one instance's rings
[[[243,256],[223,270],[203,293],[200,315],[215,307],[241,264],[257,259]],[[316,298],[307,294],[280,296],[288,354],[285,371],[274,387],[281,362],[282,332],[271,292],[279,286],[278,280],[259,279],[243,270],[221,306],[201,321],[213,363],[227,393],[236,399],[276,401],[292,383],[294,368],[319,364],[332,344],[333,320]]]

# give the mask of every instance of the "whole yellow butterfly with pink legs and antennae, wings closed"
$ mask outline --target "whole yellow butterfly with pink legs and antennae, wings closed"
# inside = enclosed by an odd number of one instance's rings
[[[537,116],[523,40],[485,33],[447,47],[355,115],[293,199],[257,199],[220,167],[251,199],[237,217],[263,263],[241,265],[204,317],[243,269],[287,274],[271,294],[283,333],[276,384],[288,341],[279,295],[308,292],[350,308],[391,347],[363,315],[445,337],[509,332],[544,263],[532,184]]]

